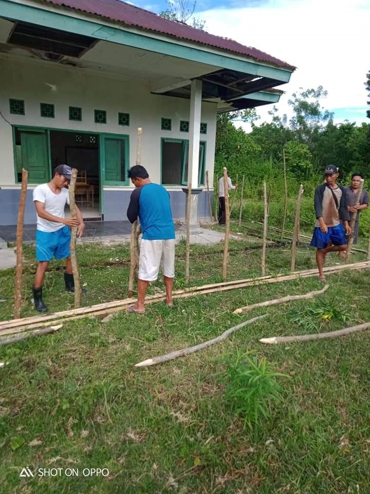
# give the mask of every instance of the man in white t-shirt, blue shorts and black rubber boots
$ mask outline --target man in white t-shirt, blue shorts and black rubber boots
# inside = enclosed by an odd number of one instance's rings
[[[49,183],[38,185],[33,190],[33,202],[37,213],[36,259],[39,264],[32,291],[34,306],[39,312],[48,310],[42,299],[42,287],[46,270],[53,257],[67,260],[64,273],[65,288],[68,292],[75,291],[69,252],[71,233],[68,226],[77,226],[77,235],[81,237],[85,224],[79,208],[77,208],[77,218],[64,217],[65,205],[69,204],[66,187],[71,176],[70,166],[59,165],[55,168]]]

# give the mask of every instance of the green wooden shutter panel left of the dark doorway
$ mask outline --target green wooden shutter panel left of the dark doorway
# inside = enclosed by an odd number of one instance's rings
[[[30,184],[49,182],[48,136],[44,129],[14,129],[14,148],[17,182],[22,181],[22,168],[28,170]]]

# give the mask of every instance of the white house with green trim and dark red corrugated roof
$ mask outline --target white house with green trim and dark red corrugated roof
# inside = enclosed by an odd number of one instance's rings
[[[16,224],[22,167],[32,189],[79,170],[84,217],[125,219],[141,164],[183,218],[207,220],[217,112],[279,100],[294,67],[119,0],[0,0],[0,225]],[[211,187],[212,191],[212,187]]]

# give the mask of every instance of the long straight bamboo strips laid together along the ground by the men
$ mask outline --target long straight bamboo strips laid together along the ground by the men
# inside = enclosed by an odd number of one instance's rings
[[[335,274],[345,270],[361,270],[370,269],[370,261],[355,262],[352,264],[340,264],[338,266],[331,266],[324,268],[325,274]],[[306,278],[317,276],[317,269],[296,271],[289,275],[280,275],[276,277],[262,276],[260,278],[249,278],[245,280],[227,281],[225,283],[216,283],[211,285],[204,285],[200,287],[190,287],[184,290],[176,290],[173,294],[174,298],[187,298],[196,296],[198,294],[217,293],[227,290],[241,289],[247,287],[255,287],[271,283],[283,283],[293,279]],[[145,298],[146,304],[152,304],[156,302],[163,302],[165,300],[165,293],[159,293],[157,295],[150,295]],[[31,316],[24,317],[23,319],[15,319],[11,321],[0,322],[0,336],[10,334],[14,332],[21,332],[36,327],[47,326],[50,321],[54,324],[60,324],[64,321],[72,321],[82,319],[83,317],[101,317],[111,312],[118,312],[123,310],[128,305],[134,303],[135,298],[126,298],[119,301],[106,302],[104,304],[98,304],[90,307],[81,307],[80,309],[72,309],[60,312],[54,312],[45,316]]]

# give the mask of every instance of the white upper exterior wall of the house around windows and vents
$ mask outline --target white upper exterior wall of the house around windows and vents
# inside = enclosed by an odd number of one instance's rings
[[[137,128],[143,128],[141,164],[151,180],[160,183],[161,137],[189,139],[180,132],[180,120],[189,120],[190,100],[150,94],[150,81],[143,83],[122,77],[63,66],[58,63],[0,56],[0,111],[12,126],[113,133],[130,136],[130,167],[136,160]],[[133,66],[135,60],[133,60]],[[48,84],[55,86],[55,90]],[[9,113],[9,98],[25,101],[25,115]],[[40,103],[52,103],[55,118],[40,116]],[[82,108],[82,121],[68,119],[68,107]],[[107,123],[94,122],[94,109],[106,110]],[[118,112],[130,114],[130,126],[118,125]],[[172,131],[161,130],[161,117],[172,119]],[[203,102],[201,121],[207,123],[206,170],[213,184],[216,133],[216,104]],[[31,185],[31,184],[30,184]],[[15,184],[12,129],[0,116],[0,187],[20,188]],[[124,187],[130,190],[132,187]],[[169,190],[181,187],[169,186]],[[104,190],[122,190],[107,187]]]

